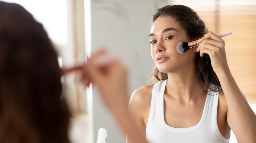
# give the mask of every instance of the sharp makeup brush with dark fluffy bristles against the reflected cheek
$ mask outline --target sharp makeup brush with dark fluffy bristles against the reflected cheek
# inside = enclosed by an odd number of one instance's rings
[[[222,38],[222,37],[228,36],[230,34],[232,34],[232,33],[228,32],[228,33],[220,34],[220,35],[218,35],[218,37]],[[195,41],[192,41],[192,42],[189,42],[189,43],[179,42],[176,49],[180,54],[183,54],[183,53],[187,52],[188,49],[198,46],[199,43],[200,42],[198,42],[198,40],[195,40]]]

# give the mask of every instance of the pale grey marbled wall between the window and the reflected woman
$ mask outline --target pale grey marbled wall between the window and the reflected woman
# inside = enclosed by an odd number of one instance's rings
[[[92,52],[102,46],[110,52],[123,48],[130,49],[131,54],[122,62],[129,71],[131,95],[135,89],[146,85],[151,78],[154,64],[150,56],[148,38],[151,16],[157,8],[167,5],[168,0],[91,0],[90,2],[85,0],[85,8],[88,4],[91,5],[91,40],[86,40],[86,45],[91,47],[86,48],[91,48]],[[88,26],[88,21],[85,25]],[[90,49],[87,49],[88,51]],[[91,107],[88,107],[93,122],[91,141],[96,142],[98,129],[105,128],[108,133],[106,142],[125,142],[125,135],[118,129],[110,112],[102,105],[96,88],[93,87],[92,94],[87,96],[88,102],[92,101],[92,104],[89,104]]]

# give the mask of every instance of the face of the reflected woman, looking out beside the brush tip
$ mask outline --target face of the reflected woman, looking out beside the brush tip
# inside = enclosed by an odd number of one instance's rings
[[[190,42],[186,31],[170,16],[158,17],[152,25],[149,39],[151,56],[161,72],[175,72],[188,68],[195,58],[195,50],[180,54],[176,50],[179,42]]]

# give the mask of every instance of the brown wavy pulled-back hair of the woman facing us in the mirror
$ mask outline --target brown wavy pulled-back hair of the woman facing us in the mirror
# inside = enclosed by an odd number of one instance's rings
[[[205,23],[200,16],[191,8],[183,5],[167,5],[159,8],[152,16],[152,24],[160,16],[170,16],[179,22],[180,26],[186,31],[187,37],[191,40],[196,40],[203,37],[208,33]],[[199,52],[195,54],[195,69],[198,78],[198,83],[202,87],[204,92],[208,89],[210,83],[213,83],[220,87],[220,81],[212,69],[211,60],[208,54],[200,56]],[[155,66],[153,69],[153,79],[157,81],[166,80],[167,73],[163,73]],[[202,84],[203,83],[203,84]],[[220,91],[220,88],[211,89],[213,91]]]

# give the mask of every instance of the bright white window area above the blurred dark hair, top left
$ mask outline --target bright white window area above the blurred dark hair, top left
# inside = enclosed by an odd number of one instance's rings
[[[3,0],[17,3],[26,8],[34,18],[44,25],[54,44],[67,42],[67,2],[66,0]]]

